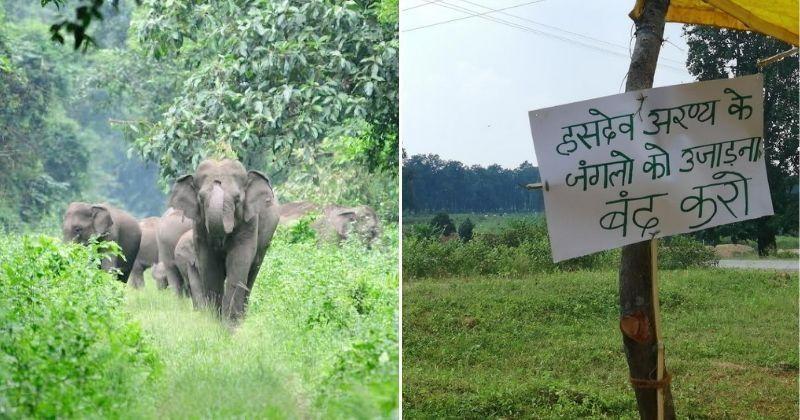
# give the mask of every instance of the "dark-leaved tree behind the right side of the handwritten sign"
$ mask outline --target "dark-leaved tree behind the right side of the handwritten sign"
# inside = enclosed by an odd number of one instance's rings
[[[708,26],[684,27],[689,72],[698,80],[759,73],[757,62],[791,48],[754,32]],[[712,228],[698,236],[755,239],[760,255],[775,248],[779,233],[797,232],[798,201],[798,61],[784,59],[763,69],[764,147],[767,180],[775,215]]]

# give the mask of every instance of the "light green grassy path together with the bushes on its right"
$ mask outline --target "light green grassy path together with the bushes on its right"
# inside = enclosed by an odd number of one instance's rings
[[[233,330],[151,283],[130,290],[127,309],[164,361],[134,417],[396,415],[396,232],[366,249],[279,230]]]

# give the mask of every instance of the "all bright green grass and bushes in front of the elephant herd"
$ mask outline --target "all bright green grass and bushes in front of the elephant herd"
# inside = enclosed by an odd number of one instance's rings
[[[276,234],[247,316],[233,329],[193,310],[189,299],[156,290],[149,277],[143,290],[124,287],[80,246],[40,237],[20,248],[19,238],[0,237],[0,251],[13,251],[0,254],[0,285],[14,292],[11,311],[0,307],[0,328],[21,337],[0,339],[0,418],[396,417],[396,226],[386,226],[371,249],[317,245],[294,233]],[[26,280],[31,274],[42,280]],[[90,290],[79,289],[81,276],[92,276]],[[48,289],[37,288],[42,281]],[[62,313],[69,318],[50,315]],[[97,350],[83,356],[75,342]],[[37,357],[40,348],[50,353]],[[9,365],[15,360],[26,367]],[[37,379],[13,393],[1,386],[25,377]],[[86,390],[87,380],[98,385]],[[76,391],[59,399],[65,385]],[[36,397],[45,391],[55,397]]]

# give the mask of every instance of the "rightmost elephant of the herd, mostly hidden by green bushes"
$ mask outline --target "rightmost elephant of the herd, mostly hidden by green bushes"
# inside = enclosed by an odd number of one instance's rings
[[[313,224],[314,230],[324,240],[342,241],[353,235],[371,244],[380,236],[378,215],[369,206],[325,206],[322,217]]]

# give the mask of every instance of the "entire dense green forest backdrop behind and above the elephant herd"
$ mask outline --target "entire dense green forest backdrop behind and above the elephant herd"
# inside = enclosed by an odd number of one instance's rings
[[[75,200],[158,215],[208,156],[396,218],[396,2],[113,3],[76,51],[51,39],[73,3],[0,0],[0,226]]]

